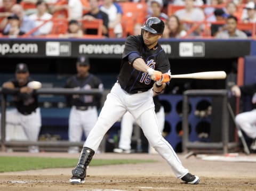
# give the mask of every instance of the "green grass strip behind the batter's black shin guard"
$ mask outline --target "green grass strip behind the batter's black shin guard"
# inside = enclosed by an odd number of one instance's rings
[[[23,170],[38,170],[50,168],[75,167],[78,159],[45,158],[45,157],[0,157],[0,172],[14,172]],[[113,165],[113,164],[135,164],[155,162],[154,160],[124,160],[124,159],[93,159],[90,166]]]

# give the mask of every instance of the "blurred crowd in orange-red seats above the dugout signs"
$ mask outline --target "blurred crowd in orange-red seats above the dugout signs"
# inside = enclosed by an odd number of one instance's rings
[[[2,37],[125,38],[150,16],[163,38],[248,38],[255,35],[252,0],[1,0]],[[139,29],[139,30],[138,30]]]

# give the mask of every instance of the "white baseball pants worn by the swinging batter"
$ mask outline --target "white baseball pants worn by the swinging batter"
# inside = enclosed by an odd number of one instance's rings
[[[127,94],[116,83],[107,95],[98,121],[87,137],[84,147],[97,151],[106,132],[126,111],[129,111],[142,128],[150,145],[170,164],[175,176],[177,178],[185,176],[188,169],[183,167],[172,146],[163,138],[154,110],[152,89],[143,93]]]

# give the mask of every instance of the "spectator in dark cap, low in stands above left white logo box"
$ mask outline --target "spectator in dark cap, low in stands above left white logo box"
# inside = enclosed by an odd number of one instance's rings
[[[68,22],[68,31],[66,34],[60,34],[59,37],[62,38],[82,38],[83,30],[81,27],[81,23],[77,20],[70,20]]]

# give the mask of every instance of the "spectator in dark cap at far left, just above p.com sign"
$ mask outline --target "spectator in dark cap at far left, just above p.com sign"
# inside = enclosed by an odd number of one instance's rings
[[[12,14],[7,17],[8,24],[10,24],[10,29],[8,31],[3,32],[4,36],[9,37],[17,37],[25,34],[19,27],[19,17],[15,14]]]

